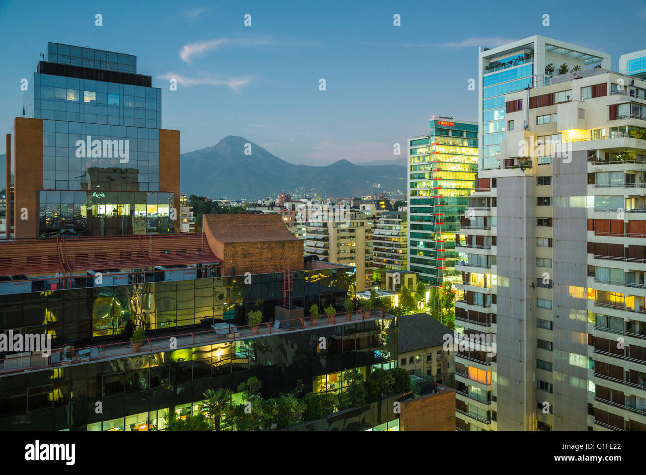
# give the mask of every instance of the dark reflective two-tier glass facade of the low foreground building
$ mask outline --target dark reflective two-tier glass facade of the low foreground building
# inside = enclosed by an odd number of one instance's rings
[[[348,269],[293,273],[292,304],[341,308]],[[48,333],[54,337],[52,348],[90,342],[98,352],[67,364],[47,359],[28,371],[21,370],[19,358],[0,359],[0,428],[154,430],[164,427],[169,412],[182,417],[202,410],[205,390],[235,389],[252,376],[262,381],[263,396],[289,392],[299,380],[306,392],[329,392],[347,385],[343,372],[348,369],[368,375],[373,368],[397,366],[397,319],[391,315],[343,318],[320,328],[272,326],[271,334],[246,332],[226,341],[199,328],[200,319],[213,316],[240,326],[254,308],[271,319],[283,302],[283,279],[282,273],[268,273],[254,275],[249,285],[245,276],[205,277],[0,295],[3,332]],[[176,335],[178,349],[166,345],[110,357],[110,343],[119,342],[125,322],[134,319],[145,322],[153,341],[156,335]],[[318,344],[320,337],[326,338],[326,348]],[[33,361],[43,358],[32,356]],[[95,410],[98,402],[101,414]]]

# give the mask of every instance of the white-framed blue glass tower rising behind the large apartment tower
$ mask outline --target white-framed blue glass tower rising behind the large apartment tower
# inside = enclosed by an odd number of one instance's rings
[[[478,61],[478,123],[480,168],[500,167],[505,137],[505,94],[534,85],[548,84],[559,67],[610,68],[610,56],[545,36],[531,36],[497,48],[480,48]],[[522,127],[520,123],[516,127]]]

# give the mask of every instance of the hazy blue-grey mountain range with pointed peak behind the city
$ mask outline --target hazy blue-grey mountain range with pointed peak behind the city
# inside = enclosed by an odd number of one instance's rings
[[[251,154],[245,155],[245,144]],[[339,160],[324,167],[294,165],[244,137],[226,136],[213,147],[180,156],[180,186],[187,195],[255,200],[297,196],[360,196],[385,191],[406,195],[406,167],[356,165]]]

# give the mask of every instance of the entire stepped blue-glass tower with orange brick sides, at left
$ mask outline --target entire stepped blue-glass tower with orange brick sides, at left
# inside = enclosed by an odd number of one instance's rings
[[[161,129],[161,89],[136,64],[48,43],[6,137],[14,237],[179,232],[180,132]]]

